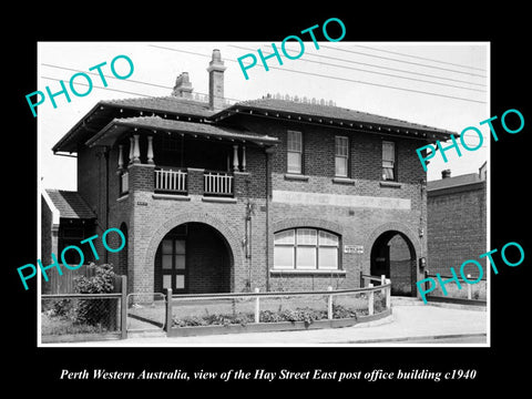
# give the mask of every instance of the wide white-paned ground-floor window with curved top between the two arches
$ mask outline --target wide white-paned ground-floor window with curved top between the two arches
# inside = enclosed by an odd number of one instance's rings
[[[317,228],[291,228],[274,237],[274,268],[280,270],[339,269],[340,238]]]

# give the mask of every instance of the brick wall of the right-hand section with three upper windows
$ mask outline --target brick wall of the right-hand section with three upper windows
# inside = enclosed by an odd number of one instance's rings
[[[268,252],[273,254],[273,233],[283,228],[316,227],[326,228],[341,236],[341,245],[364,245],[364,255],[341,254],[345,275],[324,274],[272,274],[270,289],[326,289],[327,286],[354,288],[360,286],[360,270],[370,273],[369,253],[378,234],[386,228],[406,234],[417,248],[416,259],[393,264],[393,277],[397,290],[406,291],[406,286],[422,278],[417,269],[418,258],[427,254],[427,206],[424,183],[426,174],[419,165],[416,149],[421,141],[400,140],[349,132],[340,129],[313,126],[294,122],[252,119],[242,115],[239,123],[254,132],[276,136],[280,144],[272,155],[272,190],[297,191],[305,193],[327,193],[340,195],[408,198],[409,211],[368,207],[348,207],[332,205],[297,205],[274,202],[270,204],[270,235]],[[286,175],[287,130],[303,132],[304,164],[306,180],[294,180]],[[349,177],[350,182],[335,182],[335,135],[349,137]],[[381,154],[382,140],[395,141],[397,160],[397,183],[399,187],[382,185]],[[389,227],[388,227],[389,226]],[[382,232],[379,231],[382,227]],[[375,233],[379,231],[379,233]],[[420,236],[420,232],[423,234]],[[374,236],[374,234],[376,234]],[[273,256],[268,267],[272,269]],[[413,268],[413,270],[412,270]],[[392,278],[393,284],[393,278]],[[396,287],[395,287],[396,288]],[[410,288],[410,287],[409,287]]]

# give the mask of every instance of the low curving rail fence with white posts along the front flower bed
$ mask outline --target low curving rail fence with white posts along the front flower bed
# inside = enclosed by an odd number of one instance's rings
[[[331,288],[331,287],[329,287]],[[383,293],[383,294],[382,294]],[[166,330],[187,326],[307,321],[372,316],[391,308],[391,283],[357,289],[229,294],[167,290]]]

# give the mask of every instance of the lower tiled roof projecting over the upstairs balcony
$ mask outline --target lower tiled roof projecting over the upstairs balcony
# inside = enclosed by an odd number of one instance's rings
[[[216,136],[227,140],[244,140],[260,144],[277,143],[277,137],[272,137],[264,134],[257,134],[245,130],[236,130],[226,126],[214,125],[209,123],[194,123],[163,119],[160,116],[134,116],[121,117],[111,121],[96,135],[91,137],[85,144],[112,144],[122,133],[120,129],[115,127],[140,127],[149,130],[161,130],[170,132],[193,133],[203,136]],[[111,129],[113,127],[113,129]]]

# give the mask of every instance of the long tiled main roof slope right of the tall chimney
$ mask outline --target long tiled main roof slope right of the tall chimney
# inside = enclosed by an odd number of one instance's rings
[[[418,130],[418,131],[446,134],[446,135],[457,134],[454,132],[450,132],[443,129],[427,126],[423,124],[407,122],[403,120],[398,120],[398,119],[392,119],[387,116],[380,116],[380,115],[355,111],[346,108],[311,104],[308,102],[279,100],[279,99],[272,99],[272,98],[239,102],[226,110],[218,112],[217,114],[213,115],[212,119],[216,119],[217,116],[224,113],[227,113],[228,111],[234,111],[236,109],[255,109],[255,110],[265,110],[265,111],[288,112],[288,113],[300,114],[305,116],[318,116],[318,117],[334,119],[334,120],[340,120],[340,121],[352,121],[358,123],[368,123],[368,124],[390,126],[396,129],[397,127],[407,129],[407,130],[410,129],[410,130]]]

